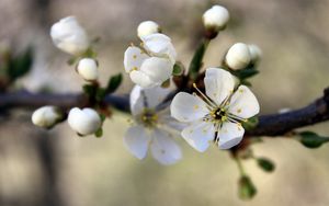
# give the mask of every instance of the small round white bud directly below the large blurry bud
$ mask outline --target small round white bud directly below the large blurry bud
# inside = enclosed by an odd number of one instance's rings
[[[99,77],[98,64],[92,58],[83,58],[77,67],[78,73],[87,81],[97,80]]]

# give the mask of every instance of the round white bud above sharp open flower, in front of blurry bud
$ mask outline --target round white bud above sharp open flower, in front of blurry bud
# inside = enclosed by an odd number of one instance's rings
[[[225,60],[227,66],[234,70],[246,68],[251,60],[248,45],[236,43],[228,49]]]

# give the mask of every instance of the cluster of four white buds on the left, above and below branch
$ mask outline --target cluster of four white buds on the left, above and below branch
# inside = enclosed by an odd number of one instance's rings
[[[98,61],[86,55],[90,49],[90,39],[77,19],[75,16],[61,19],[52,26],[50,36],[57,48],[80,59],[76,71],[86,81],[97,82]],[[32,122],[36,126],[52,128],[63,122],[66,116],[69,126],[80,136],[94,134],[102,125],[98,112],[90,107],[83,110],[75,107],[66,115],[56,106],[43,106],[33,113]]]

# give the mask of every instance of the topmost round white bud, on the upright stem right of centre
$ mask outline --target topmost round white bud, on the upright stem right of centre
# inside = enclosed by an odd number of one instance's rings
[[[229,20],[229,13],[227,9],[222,5],[213,5],[206,12],[204,12],[202,19],[206,28],[218,32],[225,28]]]

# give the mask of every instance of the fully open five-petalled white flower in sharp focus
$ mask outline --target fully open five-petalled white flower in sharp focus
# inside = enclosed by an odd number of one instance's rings
[[[240,85],[235,92],[234,77],[224,69],[208,68],[204,79],[205,93],[178,93],[171,103],[171,115],[190,123],[181,135],[197,151],[205,151],[213,140],[220,149],[229,149],[242,140],[241,122],[259,113],[253,93]]]

